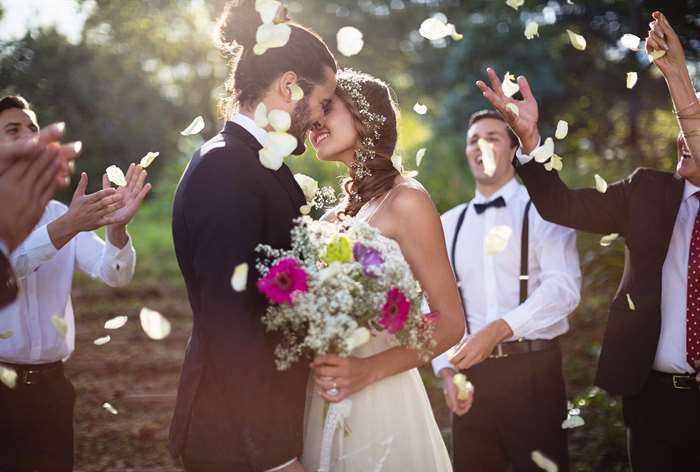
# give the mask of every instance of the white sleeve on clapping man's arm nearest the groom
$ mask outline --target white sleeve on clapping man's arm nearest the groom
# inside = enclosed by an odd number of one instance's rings
[[[131,282],[136,269],[136,252],[129,242],[119,249],[103,241],[93,231],[76,236],[75,258],[78,268],[93,279],[110,287],[122,287]]]

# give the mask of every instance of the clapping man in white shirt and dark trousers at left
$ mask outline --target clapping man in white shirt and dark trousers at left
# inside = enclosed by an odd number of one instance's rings
[[[0,142],[39,132],[26,101],[0,111]],[[75,392],[63,361],[75,347],[70,291],[78,269],[106,284],[126,285],[135,253],[126,225],[150,190],[146,172],[131,166],[127,185],[86,195],[82,174],[70,207],[52,200],[34,231],[10,254],[17,300],[0,310],[0,368],[13,382],[0,384],[0,470],[70,471],[73,468]],[[107,241],[93,230],[107,227]],[[7,378],[7,376],[5,376]]]

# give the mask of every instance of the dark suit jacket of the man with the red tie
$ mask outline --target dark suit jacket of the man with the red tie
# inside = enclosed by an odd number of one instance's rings
[[[557,172],[532,159],[513,164],[542,217],[552,223],[625,240],[625,268],[600,353],[596,384],[634,395],[646,382],[661,329],[661,275],[683,198],[677,175],[637,169],[605,193],[569,189]],[[627,302],[630,294],[636,310]]]

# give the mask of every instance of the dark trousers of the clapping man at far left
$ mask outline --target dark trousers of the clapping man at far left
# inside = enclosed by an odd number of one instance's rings
[[[62,374],[14,389],[0,383],[0,472],[73,470],[75,390]]]

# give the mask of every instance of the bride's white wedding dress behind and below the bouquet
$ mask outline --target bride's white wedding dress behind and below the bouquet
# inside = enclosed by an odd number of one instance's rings
[[[412,180],[399,185],[420,186]],[[369,222],[383,202],[384,199],[368,203],[357,218]],[[398,244],[396,250],[400,251]],[[379,333],[352,355],[369,357],[396,345],[391,335]],[[388,377],[348,398],[352,406],[345,419],[347,431],[338,428],[333,438],[332,472],[452,470],[418,369]],[[319,468],[324,409],[325,401],[310,379],[302,459],[307,472]]]

